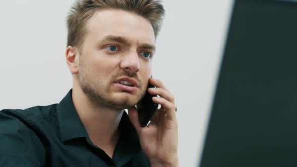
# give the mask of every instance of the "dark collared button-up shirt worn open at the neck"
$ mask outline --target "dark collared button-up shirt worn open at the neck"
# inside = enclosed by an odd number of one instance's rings
[[[90,140],[71,94],[72,90],[59,104],[0,111],[1,167],[151,166],[126,112],[110,158]]]

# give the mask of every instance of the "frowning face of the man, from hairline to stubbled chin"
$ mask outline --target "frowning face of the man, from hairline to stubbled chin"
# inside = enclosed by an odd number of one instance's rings
[[[86,28],[78,73],[83,92],[97,107],[134,106],[144,96],[151,76],[155,51],[151,23],[129,12],[103,10]],[[126,86],[125,81],[133,86]]]

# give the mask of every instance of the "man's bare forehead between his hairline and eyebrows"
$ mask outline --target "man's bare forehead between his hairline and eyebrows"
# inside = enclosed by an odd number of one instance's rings
[[[152,24],[131,12],[101,10],[87,23],[87,36],[100,40],[105,36],[123,36],[131,42],[155,44]]]

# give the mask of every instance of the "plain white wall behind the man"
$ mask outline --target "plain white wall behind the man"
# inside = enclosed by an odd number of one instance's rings
[[[65,16],[74,0],[0,1],[0,110],[59,103],[72,85]],[[180,166],[197,166],[233,0],[165,0],[153,76],[175,94]]]

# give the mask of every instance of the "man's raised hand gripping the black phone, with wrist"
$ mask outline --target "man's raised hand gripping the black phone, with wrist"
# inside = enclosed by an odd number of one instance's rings
[[[177,119],[174,96],[163,83],[155,78],[148,80],[157,88],[148,89],[148,93],[159,95],[153,101],[161,105],[151,119],[150,124],[141,128],[135,107],[129,108],[129,119],[139,136],[143,152],[150,159],[152,166],[178,166],[177,156]]]

